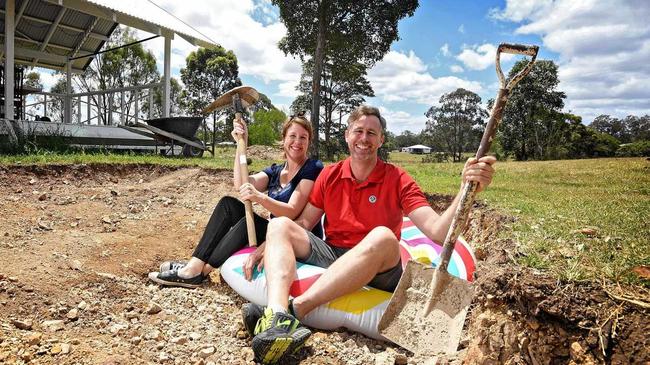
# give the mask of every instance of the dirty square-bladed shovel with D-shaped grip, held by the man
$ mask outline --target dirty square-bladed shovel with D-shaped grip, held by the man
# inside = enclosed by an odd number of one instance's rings
[[[510,90],[530,72],[537,57],[537,46],[501,44],[497,48],[496,71],[500,88],[481,139],[476,158],[490,150]],[[531,59],[517,75],[506,82],[501,71],[501,53],[521,54]],[[460,342],[467,308],[474,287],[447,272],[458,236],[465,229],[478,184],[465,184],[458,208],[444,241],[437,268],[409,260],[386,311],[378,324],[379,333],[418,355],[451,354]]]

